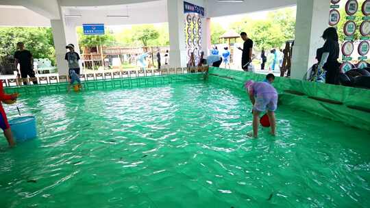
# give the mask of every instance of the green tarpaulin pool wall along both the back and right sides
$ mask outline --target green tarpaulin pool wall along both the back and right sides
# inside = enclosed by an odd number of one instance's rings
[[[264,80],[265,75],[245,73],[238,70],[210,67],[208,81],[244,90],[249,79]],[[158,86],[168,83],[199,81],[204,74],[181,74],[155,77],[84,81],[85,90],[135,88]],[[4,88],[7,93],[25,95],[65,93],[68,83]],[[311,114],[345,123],[351,127],[370,131],[370,90],[313,83],[297,79],[276,77],[273,86],[280,94],[279,104],[288,105],[293,111],[303,110]]]

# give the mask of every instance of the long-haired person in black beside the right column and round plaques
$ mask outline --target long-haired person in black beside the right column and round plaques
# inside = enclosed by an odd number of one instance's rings
[[[325,44],[320,49],[321,57],[318,57],[319,66],[317,66],[317,82],[338,84],[340,66],[338,62],[339,57],[339,43],[338,34],[334,27],[329,27],[323,32],[323,39]],[[324,70],[326,73],[324,73]]]

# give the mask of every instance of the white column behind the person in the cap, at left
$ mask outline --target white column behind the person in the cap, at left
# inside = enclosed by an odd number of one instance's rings
[[[64,33],[64,23],[62,20],[51,20],[51,29],[53,31],[54,47],[56,48],[56,63],[59,75],[67,75],[68,64],[64,60],[66,54],[66,36]]]

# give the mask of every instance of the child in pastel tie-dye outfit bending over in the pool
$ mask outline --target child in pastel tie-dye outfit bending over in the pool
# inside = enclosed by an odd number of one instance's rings
[[[261,112],[267,111],[271,124],[271,134],[275,135],[276,120],[275,110],[277,109],[277,91],[271,85],[275,80],[273,74],[266,76],[264,81],[249,80],[245,83],[245,90],[253,105],[253,137],[258,138],[258,125]],[[249,135],[251,136],[251,135]]]

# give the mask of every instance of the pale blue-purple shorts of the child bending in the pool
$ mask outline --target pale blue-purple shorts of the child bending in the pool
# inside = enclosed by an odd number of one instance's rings
[[[275,112],[277,109],[277,94],[275,93],[263,93],[255,96],[256,103],[254,103],[253,109],[258,112]]]

